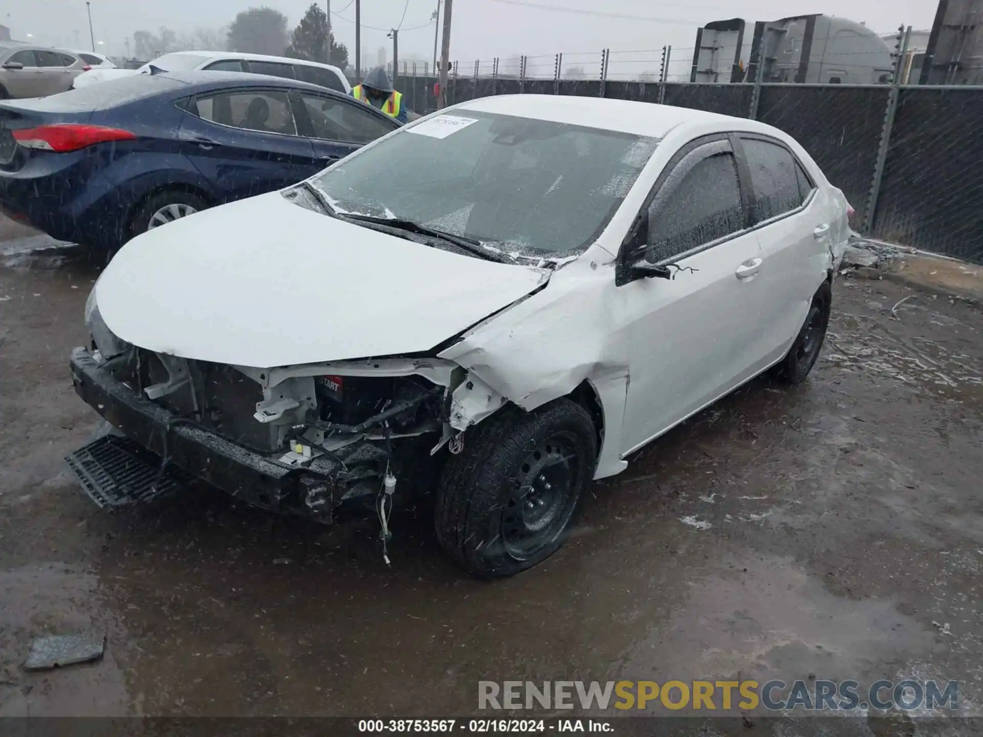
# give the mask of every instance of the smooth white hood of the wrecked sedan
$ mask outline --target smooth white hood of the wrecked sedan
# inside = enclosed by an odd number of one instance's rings
[[[426,351],[547,279],[271,193],[139,236],[110,261],[95,298],[134,345],[273,368]]]

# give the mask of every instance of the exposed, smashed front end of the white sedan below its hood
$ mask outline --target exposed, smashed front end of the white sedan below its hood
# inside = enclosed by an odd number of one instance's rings
[[[455,434],[454,390],[469,391],[465,371],[439,359],[253,369],[114,337],[93,330],[92,349],[70,362],[76,392],[126,438],[100,438],[68,459],[100,506],[153,498],[183,474],[330,522],[344,502],[391,495],[397,479],[401,491],[430,485],[434,454]]]

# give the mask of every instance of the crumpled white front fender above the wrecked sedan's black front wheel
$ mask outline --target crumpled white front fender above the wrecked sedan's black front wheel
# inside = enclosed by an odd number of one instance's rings
[[[478,324],[442,351],[439,358],[468,370],[452,397],[451,425],[464,429],[480,422],[503,398],[534,410],[587,380],[605,418],[595,478],[623,470],[626,464],[618,453],[628,341],[615,328],[623,323],[609,312],[617,304],[612,269],[612,262],[578,259],[554,274],[545,289]]]

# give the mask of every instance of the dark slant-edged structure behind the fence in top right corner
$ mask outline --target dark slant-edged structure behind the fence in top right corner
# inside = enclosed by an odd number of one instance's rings
[[[919,83],[983,84],[983,0],[939,0]]]

